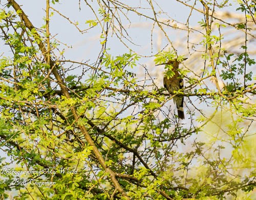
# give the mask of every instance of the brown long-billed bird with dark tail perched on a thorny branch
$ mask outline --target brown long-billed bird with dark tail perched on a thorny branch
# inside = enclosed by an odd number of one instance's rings
[[[186,60],[183,59],[183,60]],[[174,91],[178,91],[180,89],[184,89],[183,86],[183,79],[180,77],[180,73],[177,70],[179,68],[179,64],[181,62],[177,59],[169,60],[166,63],[158,64],[158,65],[171,65],[173,67],[172,71],[174,72],[174,75],[172,77],[164,76],[163,78],[163,85],[167,89],[167,91],[170,94],[174,94]],[[183,96],[174,96],[173,97],[174,103],[176,104],[177,110],[178,110],[178,117],[180,119],[184,119],[184,110],[183,110],[183,102],[184,97]]]

